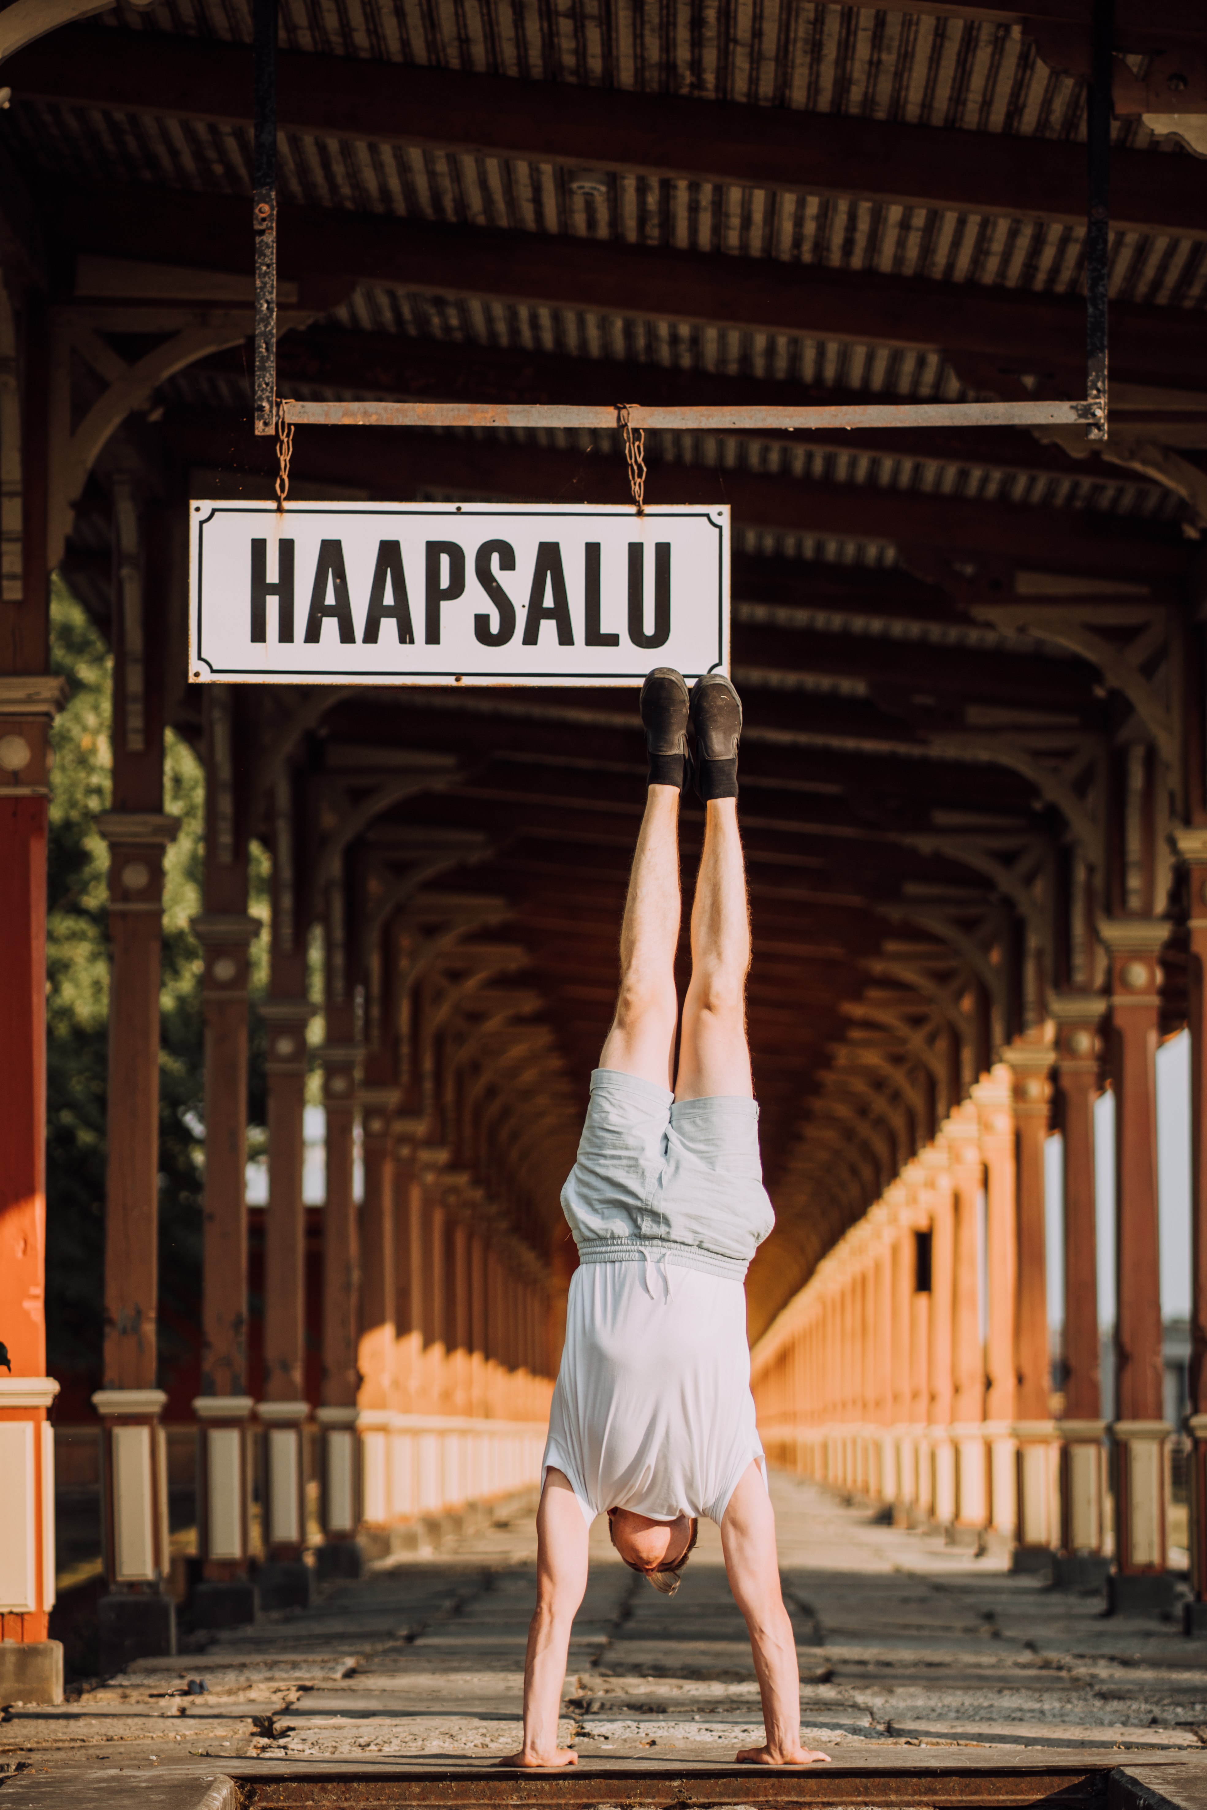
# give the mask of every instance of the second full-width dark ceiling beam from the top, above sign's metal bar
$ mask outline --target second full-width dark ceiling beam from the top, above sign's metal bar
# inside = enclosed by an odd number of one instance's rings
[[[43,183],[43,203],[76,252],[192,270],[250,268],[242,195],[56,176]],[[284,205],[279,221],[279,275],[302,288],[317,281],[340,291],[353,281],[626,320],[975,353],[1012,373],[1077,375],[1086,364],[1086,308],[1075,295],[333,208]],[[1115,302],[1111,376],[1207,389],[1198,311]]]

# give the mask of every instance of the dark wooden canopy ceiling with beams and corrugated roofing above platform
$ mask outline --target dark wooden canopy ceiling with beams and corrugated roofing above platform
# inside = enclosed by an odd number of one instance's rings
[[[1133,71],[1165,47],[1165,4],[1124,43]],[[1189,11],[1171,11],[1187,42]],[[1069,33],[975,0],[943,16],[282,0],[280,33],[282,396],[1086,393]],[[252,433],[250,42],[248,0],[121,0],[0,71],[4,230],[43,261],[76,420],[176,335],[214,338],[139,393],[67,523],[62,570],[101,626],[116,471],[179,498],[181,521],[188,494],[271,494],[277,449]],[[1060,977],[1044,921],[1149,695],[1104,679],[1069,623],[1093,621],[1153,691],[1171,644],[1153,623],[1202,557],[1203,201],[1202,157],[1115,121],[1104,445],[1082,429],[646,440],[648,501],[733,509],[749,1035],[778,1215],[755,1336],[1042,1014],[1044,950]],[[628,478],[610,431],[299,427],[290,496],[624,503]],[[170,715],[197,738],[183,590],[168,601]],[[264,740],[304,702],[264,693]],[[440,757],[438,784],[391,804],[414,753]],[[304,762],[317,813],[385,800],[364,813],[364,872],[404,874],[445,838],[431,887],[503,901],[483,934],[523,963],[490,985],[532,996],[546,1173],[565,1173],[644,804],[635,693],[331,695]],[[252,811],[271,840],[271,798]],[[700,833],[689,802],[688,896]],[[682,977],[686,954],[684,936]],[[552,1189],[545,1205],[552,1240]]]

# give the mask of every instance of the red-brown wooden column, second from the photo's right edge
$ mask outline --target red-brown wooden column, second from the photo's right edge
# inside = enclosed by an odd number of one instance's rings
[[[1113,1609],[1169,1607],[1165,1573],[1164,1339],[1156,1240],[1156,1041],[1160,918],[1098,919],[1111,957],[1117,1281]]]

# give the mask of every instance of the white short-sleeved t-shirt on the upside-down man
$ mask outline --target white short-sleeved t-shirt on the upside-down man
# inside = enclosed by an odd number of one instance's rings
[[[541,1481],[563,1472],[588,1524],[610,1508],[720,1522],[751,1459],[765,1482],[742,1283],[666,1256],[581,1265]]]

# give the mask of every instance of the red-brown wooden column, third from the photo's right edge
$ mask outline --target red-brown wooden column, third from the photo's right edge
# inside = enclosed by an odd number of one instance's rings
[[[1053,994],[1057,1104],[1064,1138],[1064,1417],[1060,1437],[1060,1557],[1057,1582],[1106,1575],[1104,1434],[1098,1377],[1098,1234],[1093,1108],[1098,1093],[1102,994]]]

